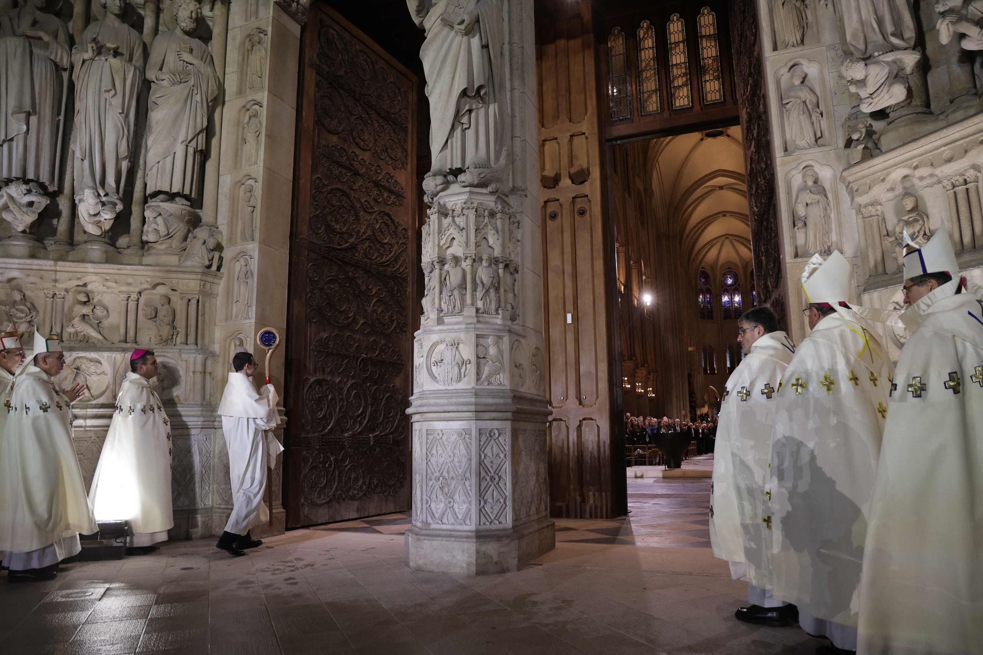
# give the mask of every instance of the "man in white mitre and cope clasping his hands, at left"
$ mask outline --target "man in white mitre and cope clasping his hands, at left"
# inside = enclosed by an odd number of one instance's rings
[[[72,443],[72,401],[54,377],[65,367],[57,337],[34,334],[0,441],[0,550],[11,581],[49,580],[96,531]],[[73,391],[73,395],[75,392]]]

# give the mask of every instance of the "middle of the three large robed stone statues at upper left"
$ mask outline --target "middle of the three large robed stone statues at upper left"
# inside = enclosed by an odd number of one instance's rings
[[[75,81],[75,193],[83,229],[108,232],[123,206],[144,40],[123,22],[129,0],[100,0],[106,18],[86,27],[72,50]]]

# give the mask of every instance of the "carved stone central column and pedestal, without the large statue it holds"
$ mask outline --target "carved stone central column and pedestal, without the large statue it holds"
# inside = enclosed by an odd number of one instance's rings
[[[501,125],[495,129],[506,136],[511,152],[496,160],[501,172],[492,173],[503,179],[479,179],[473,187],[444,185],[430,199],[445,206],[447,214],[430,213],[424,234],[441,234],[446,221],[463,220],[461,239],[434,254],[473,256],[486,234],[476,220],[499,211],[510,222],[514,219],[514,240],[492,237],[488,243],[492,256],[525,269],[520,279],[526,302],[516,321],[472,309],[424,322],[416,333],[414,360],[423,362],[423,370],[408,409],[413,422],[413,526],[406,533],[406,561],[416,571],[517,571],[553,548],[547,512],[543,310],[534,300],[543,297],[542,228],[534,191],[537,111],[535,96],[523,92],[536,85],[535,66],[526,59],[536,52],[533,1],[505,4],[505,42],[510,45],[503,52],[503,68],[515,79],[507,80],[500,94],[496,91],[503,106],[498,108]],[[501,81],[505,86],[506,79]],[[527,241],[529,246],[523,244]],[[468,265],[469,303],[471,269]],[[481,385],[480,352],[486,372],[488,366],[500,366]],[[513,357],[528,361],[526,370],[540,372],[520,381],[515,367],[505,365]]]

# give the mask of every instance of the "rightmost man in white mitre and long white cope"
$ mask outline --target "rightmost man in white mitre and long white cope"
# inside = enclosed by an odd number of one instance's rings
[[[906,236],[906,235],[905,235]],[[859,652],[983,648],[983,302],[940,230],[908,241],[897,360],[860,585]]]

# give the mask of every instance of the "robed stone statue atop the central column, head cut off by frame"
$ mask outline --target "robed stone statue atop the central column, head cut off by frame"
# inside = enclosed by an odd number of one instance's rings
[[[420,50],[431,108],[429,199],[458,182],[497,191],[505,164],[503,0],[406,0],[426,41]]]

